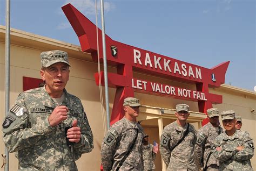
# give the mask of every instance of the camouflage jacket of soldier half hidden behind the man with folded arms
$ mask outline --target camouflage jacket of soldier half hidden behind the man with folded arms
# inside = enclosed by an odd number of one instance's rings
[[[212,142],[217,136],[219,136],[220,133],[223,133],[223,129],[220,126],[215,128],[211,123],[207,123],[198,130],[197,144],[195,148],[195,157],[198,167],[206,167],[205,164],[211,152]],[[203,163],[201,163],[202,159]],[[210,155],[207,162],[207,166],[210,165],[219,166],[219,161],[212,154]]]

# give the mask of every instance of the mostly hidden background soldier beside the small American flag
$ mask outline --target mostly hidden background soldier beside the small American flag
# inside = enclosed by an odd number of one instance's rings
[[[149,136],[144,134],[142,146],[144,170],[153,171],[156,169],[156,166],[154,166],[154,160],[156,160],[157,154],[153,152],[153,148],[154,146],[149,144]]]

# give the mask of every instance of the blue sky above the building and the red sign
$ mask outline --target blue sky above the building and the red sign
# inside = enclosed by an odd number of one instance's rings
[[[79,45],[61,10],[67,3],[95,23],[95,1],[11,0],[11,27]],[[206,68],[231,61],[226,84],[256,86],[255,0],[116,0],[104,1],[104,8],[105,32],[112,39]]]

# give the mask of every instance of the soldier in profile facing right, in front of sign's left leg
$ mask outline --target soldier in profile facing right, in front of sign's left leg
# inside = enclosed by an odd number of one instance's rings
[[[139,116],[139,100],[124,99],[125,116],[114,123],[102,143],[103,170],[143,170],[142,126],[136,122]]]

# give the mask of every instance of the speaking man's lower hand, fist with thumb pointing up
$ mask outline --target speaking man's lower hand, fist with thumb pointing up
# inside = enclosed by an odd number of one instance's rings
[[[68,129],[68,132],[66,133],[66,138],[73,143],[78,143],[80,141],[81,129],[80,127],[77,127],[77,119],[73,120],[72,127]]]

